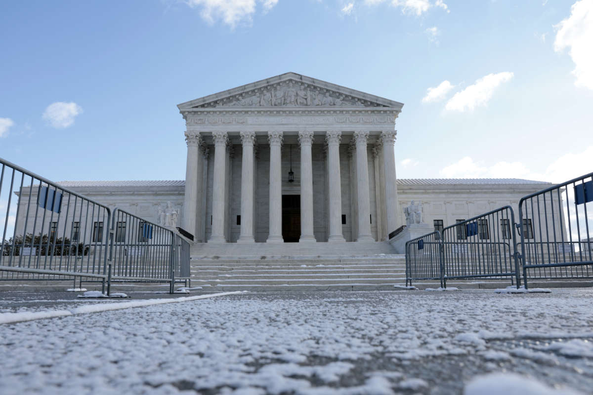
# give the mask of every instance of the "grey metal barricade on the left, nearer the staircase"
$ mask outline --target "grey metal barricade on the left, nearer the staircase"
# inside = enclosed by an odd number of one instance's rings
[[[170,229],[116,208],[110,230],[110,280],[176,282],[189,280],[189,243]]]

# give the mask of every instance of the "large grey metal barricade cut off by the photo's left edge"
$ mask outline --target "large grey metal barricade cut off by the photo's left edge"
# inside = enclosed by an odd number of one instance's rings
[[[109,208],[7,160],[0,165],[0,281],[85,278],[104,291]]]

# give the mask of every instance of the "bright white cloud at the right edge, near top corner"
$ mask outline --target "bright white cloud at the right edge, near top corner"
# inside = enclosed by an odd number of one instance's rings
[[[554,50],[569,47],[575,63],[575,85],[593,89],[593,1],[580,0],[570,8],[570,17],[554,25],[557,29]]]

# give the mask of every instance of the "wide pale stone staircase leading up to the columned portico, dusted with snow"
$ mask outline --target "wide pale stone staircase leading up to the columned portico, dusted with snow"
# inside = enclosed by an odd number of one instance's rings
[[[199,245],[192,287],[216,291],[394,290],[406,259],[388,243]]]

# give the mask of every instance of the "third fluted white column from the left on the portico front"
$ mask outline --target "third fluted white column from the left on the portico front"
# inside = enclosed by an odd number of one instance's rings
[[[242,131],[243,159],[241,162],[241,234],[237,243],[253,243],[253,144],[256,134]]]

